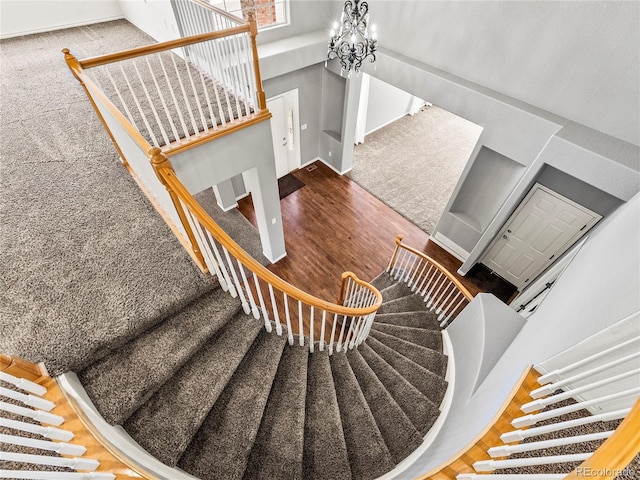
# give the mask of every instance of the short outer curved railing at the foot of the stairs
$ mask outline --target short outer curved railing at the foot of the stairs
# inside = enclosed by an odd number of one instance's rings
[[[401,235],[396,237],[396,247],[387,265],[387,272],[424,299],[427,308],[438,315],[441,327],[449,325],[473,299],[471,293],[445,267],[403,244]]]

